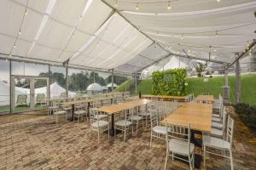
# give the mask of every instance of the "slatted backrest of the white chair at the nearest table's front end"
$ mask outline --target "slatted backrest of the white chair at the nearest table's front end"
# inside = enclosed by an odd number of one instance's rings
[[[187,147],[188,155],[190,153],[190,125],[189,124],[177,124],[177,123],[166,123],[166,144],[170,139],[177,144],[183,144]],[[180,142],[184,141],[184,142]]]

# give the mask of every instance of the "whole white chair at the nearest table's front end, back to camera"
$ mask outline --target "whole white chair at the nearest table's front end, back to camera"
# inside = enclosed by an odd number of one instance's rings
[[[182,161],[189,162],[190,170],[194,168],[194,150],[195,144],[190,143],[190,125],[166,123],[166,163],[169,156],[172,156],[172,161],[177,158]],[[183,159],[180,156],[188,156],[189,160]]]

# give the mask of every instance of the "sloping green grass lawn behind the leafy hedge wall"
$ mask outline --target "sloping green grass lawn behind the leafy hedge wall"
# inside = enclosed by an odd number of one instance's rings
[[[235,100],[235,76],[229,76],[230,85],[230,101]],[[204,82],[201,77],[187,77],[189,83],[189,94],[194,93],[195,96],[203,92],[209,92],[218,98],[218,94],[222,94],[222,86],[224,85],[224,77],[212,77],[208,82]],[[143,80],[137,86],[137,91],[142,94],[151,94],[151,80]],[[256,105],[256,75],[241,75],[241,102],[250,105]]]

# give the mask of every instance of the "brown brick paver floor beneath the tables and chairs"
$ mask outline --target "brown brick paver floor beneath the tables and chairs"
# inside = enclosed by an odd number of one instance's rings
[[[235,118],[233,156],[235,169],[256,167],[256,135],[250,131],[229,107]],[[21,118],[20,118],[21,117]],[[0,170],[4,169],[164,169],[165,141],[154,139],[149,149],[150,130],[141,127],[129,135],[125,143],[121,135],[108,140],[96,133],[89,138],[90,122],[61,122],[51,116],[0,116]],[[4,121],[6,120],[6,121]],[[184,169],[180,161],[169,161],[169,169]],[[207,156],[207,167],[230,169],[230,161]]]

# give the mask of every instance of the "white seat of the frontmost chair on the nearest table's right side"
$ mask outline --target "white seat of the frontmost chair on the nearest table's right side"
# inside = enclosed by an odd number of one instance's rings
[[[224,139],[218,139],[212,136],[203,135],[203,144],[216,149],[230,149],[230,143]]]

